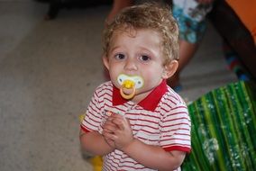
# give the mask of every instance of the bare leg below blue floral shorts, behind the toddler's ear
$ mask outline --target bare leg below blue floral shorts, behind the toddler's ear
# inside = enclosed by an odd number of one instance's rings
[[[191,58],[194,57],[198,48],[198,43],[189,43],[186,40],[179,40],[179,60],[178,60],[178,70],[176,74],[168,79],[168,85],[171,87],[176,87],[179,85],[179,74]]]

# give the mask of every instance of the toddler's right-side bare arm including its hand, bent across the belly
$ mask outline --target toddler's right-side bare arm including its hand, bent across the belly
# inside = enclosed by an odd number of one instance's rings
[[[107,139],[113,139],[115,148],[122,150],[143,166],[158,170],[175,170],[180,166],[186,156],[182,151],[167,152],[159,146],[152,146],[133,138],[129,121],[119,114],[114,114],[110,119],[117,125],[114,133],[104,133]],[[111,129],[111,128],[109,128]]]

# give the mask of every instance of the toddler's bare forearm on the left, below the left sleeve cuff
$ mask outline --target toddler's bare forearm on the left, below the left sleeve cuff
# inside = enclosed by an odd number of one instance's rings
[[[81,147],[93,155],[105,155],[114,150],[97,131],[85,132],[81,129],[79,138]]]

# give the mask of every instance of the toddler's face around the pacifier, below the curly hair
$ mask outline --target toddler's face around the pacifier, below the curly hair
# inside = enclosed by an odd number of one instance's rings
[[[168,78],[163,67],[164,58],[158,32],[115,31],[110,44],[108,57],[104,58],[104,62],[116,87],[120,88],[117,77],[121,74],[142,77],[143,86],[136,90],[136,94],[151,91],[160,85],[163,78]]]

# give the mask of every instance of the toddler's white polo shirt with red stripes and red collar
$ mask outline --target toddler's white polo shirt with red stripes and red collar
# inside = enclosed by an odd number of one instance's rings
[[[110,112],[122,114],[131,124],[133,137],[166,151],[190,152],[190,118],[186,103],[166,81],[140,103],[123,99],[110,81],[99,85],[88,105],[81,129],[102,132]],[[140,149],[138,149],[140,150]],[[104,157],[104,170],[153,170],[115,149]],[[179,170],[179,169],[178,169]]]

